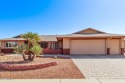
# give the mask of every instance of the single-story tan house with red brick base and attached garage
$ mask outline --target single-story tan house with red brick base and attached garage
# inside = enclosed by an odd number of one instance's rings
[[[67,35],[40,35],[44,54],[124,55],[124,37],[87,28]],[[1,52],[12,53],[16,45],[27,43],[21,36],[1,39]]]

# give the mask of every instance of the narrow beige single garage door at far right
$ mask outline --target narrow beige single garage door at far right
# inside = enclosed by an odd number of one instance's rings
[[[119,39],[110,40],[110,54],[120,54],[120,40]]]

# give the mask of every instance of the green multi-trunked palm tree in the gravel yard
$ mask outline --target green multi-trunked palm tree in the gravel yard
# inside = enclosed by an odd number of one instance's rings
[[[15,51],[22,53],[24,60],[33,61],[34,57],[40,53],[42,53],[42,48],[38,44],[38,42],[41,40],[37,33],[27,32],[21,36],[22,38],[26,39],[28,44],[20,47],[17,47],[21,49],[15,49]],[[25,58],[25,52],[28,53],[28,59]]]

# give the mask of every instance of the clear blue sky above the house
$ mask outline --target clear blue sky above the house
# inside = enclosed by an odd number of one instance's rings
[[[125,0],[0,0],[0,38],[88,27],[125,34]]]

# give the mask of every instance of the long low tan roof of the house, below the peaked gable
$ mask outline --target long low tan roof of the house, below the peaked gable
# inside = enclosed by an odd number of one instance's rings
[[[57,41],[57,38],[63,37],[125,37],[123,34],[67,34],[67,35],[39,35],[42,41]],[[5,38],[2,40],[25,40],[23,38]]]

